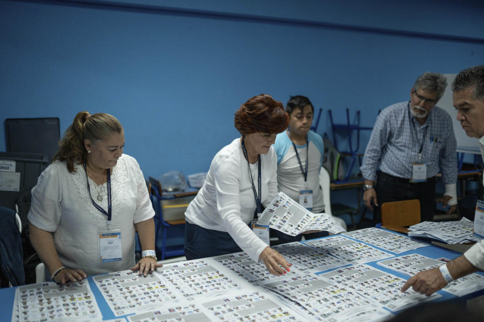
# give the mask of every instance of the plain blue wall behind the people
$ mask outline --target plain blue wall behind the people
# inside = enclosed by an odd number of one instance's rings
[[[88,110],[120,120],[146,177],[207,171],[260,93],[308,96],[319,133],[328,109],[372,126],[422,72],[482,64],[483,16],[480,1],[2,0],[0,150],[6,118],[59,117],[64,132]]]

